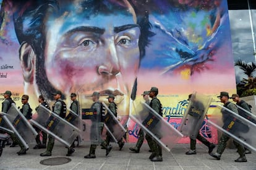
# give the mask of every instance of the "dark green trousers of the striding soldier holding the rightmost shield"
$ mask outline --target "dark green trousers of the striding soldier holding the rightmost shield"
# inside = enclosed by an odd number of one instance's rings
[[[226,135],[221,135],[220,142],[218,143],[218,148],[217,148],[217,153],[220,155],[223,153],[223,151],[226,148],[226,144],[229,140],[229,137]],[[237,152],[239,153],[240,156],[244,156],[244,147],[237,143],[236,141],[233,141],[234,145],[237,148]]]

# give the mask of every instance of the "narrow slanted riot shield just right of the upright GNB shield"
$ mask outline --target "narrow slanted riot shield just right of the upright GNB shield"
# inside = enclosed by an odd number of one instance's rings
[[[105,117],[105,125],[108,133],[113,138],[114,142],[118,142],[122,139],[124,134],[126,134],[126,129],[122,126],[122,124],[117,120],[116,116],[112,113],[112,111],[108,108],[108,106],[102,102],[103,106],[108,110],[108,114]]]

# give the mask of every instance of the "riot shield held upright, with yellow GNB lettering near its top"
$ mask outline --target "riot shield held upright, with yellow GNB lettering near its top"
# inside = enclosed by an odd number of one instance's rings
[[[96,109],[82,109],[82,130],[80,136],[83,142],[91,142],[95,145],[101,143],[101,125]]]

